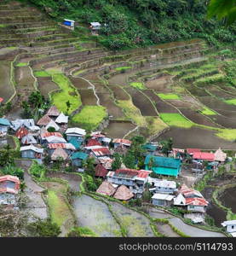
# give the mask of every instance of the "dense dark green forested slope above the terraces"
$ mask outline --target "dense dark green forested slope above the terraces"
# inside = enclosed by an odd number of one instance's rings
[[[234,40],[234,24],[226,27],[222,26],[222,21],[207,20],[207,4],[204,1],[27,1],[46,10],[57,20],[66,15],[69,19],[85,24],[91,20],[106,23],[108,26],[101,28],[97,40],[111,49],[135,48],[189,38],[205,38],[216,46]],[[215,15],[214,12],[211,14]],[[76,29],[75,33],[81,34],[81,30]]]

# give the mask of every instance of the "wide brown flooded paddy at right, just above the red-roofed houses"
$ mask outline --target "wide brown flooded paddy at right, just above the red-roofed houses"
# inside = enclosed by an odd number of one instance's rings
[[[197,127],[190,129],[171,127],[170,131],[164,132],[154,141],[161,141],[172,137],[174,138],[173,146],[176,148],[218,149],[220,145],[223,149],[235,149],[235,143],[223,140],[214,134],[214,131]]]

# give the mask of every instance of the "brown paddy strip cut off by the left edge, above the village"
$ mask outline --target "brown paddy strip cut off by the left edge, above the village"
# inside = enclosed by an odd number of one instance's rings
[[[3,103],[13,94],[13,85],[10,83],[10,62],[0,61],[0,97],[3,98]]]

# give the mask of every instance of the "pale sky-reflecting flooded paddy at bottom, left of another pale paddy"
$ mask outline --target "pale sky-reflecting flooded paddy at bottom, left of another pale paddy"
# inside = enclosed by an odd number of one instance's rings
[[[119,225],[104,202],[81,195],[73,196],[72,206],[78,226],[89,228],[99,237],[121,236]]]

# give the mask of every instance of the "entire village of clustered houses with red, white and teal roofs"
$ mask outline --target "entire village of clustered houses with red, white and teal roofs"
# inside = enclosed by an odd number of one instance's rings
[[[113,154],[125,154],[132,142],[106,137],[101,131],[86,134],[79,127],[68,128],[68,116],[55,106],[38,120],[1,118],[1,142],[9,134],[20,140],[21,159],[35,160],[42,165],[45,158],[49,158],[49,165],[60,160],[63,168],[72,166],[73,172],[83,174],[84,161],[94,158],[95,177],[102,180],[96,193],[124,202],[141,199],[144,191],[149,190],[152,195],[149,203],[153,207],[184,209],[187,212],[184,218],[191,219],[193,224],[204,223],[209,205],[204,196],[193,189],[194,182],[210,170],[217,172],[227,161],[227,154],[221,148],[211,153],[199,148],[172,148],[166,157],[158,143],[145,143],[141,146],[145,149],[141,170],[126,168],[124,164],[112,170]],[[191,165],[186,170],[183,166],[189,159]],[[15,176],[0,177],[0,204],[3,207],[17,208],[15,196],[20,192],[20,183]],[[233,232],[235,222],[222,223],[232,236],[236,234]]]

